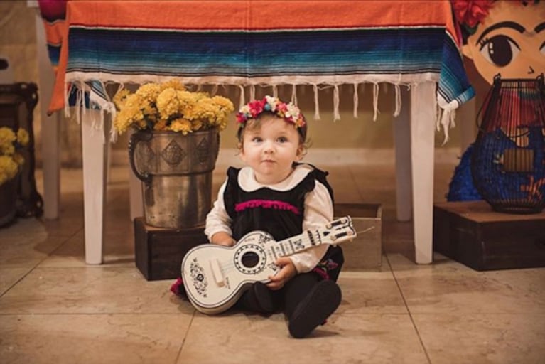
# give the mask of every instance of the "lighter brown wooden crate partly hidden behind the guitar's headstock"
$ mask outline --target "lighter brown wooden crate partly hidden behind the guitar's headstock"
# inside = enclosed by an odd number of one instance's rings
[[[350,215],[357,232],[351,242],[340,246],[345,255],[342,270],[374,270],[382,265],[382,205],[363,203],[336,203],[335,215]],[[367,232],[363,232],[369,229]]]

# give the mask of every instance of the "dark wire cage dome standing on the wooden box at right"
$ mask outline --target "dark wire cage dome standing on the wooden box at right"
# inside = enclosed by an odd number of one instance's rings
[[[545,207],[544,75],[502,80],[498,74],[477,114],[471,159],[473,183],[503,213]]]

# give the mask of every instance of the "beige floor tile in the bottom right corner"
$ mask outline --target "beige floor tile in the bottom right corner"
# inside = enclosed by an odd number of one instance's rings
[[[545,314],[413,314],[433,364],[541,364]]]

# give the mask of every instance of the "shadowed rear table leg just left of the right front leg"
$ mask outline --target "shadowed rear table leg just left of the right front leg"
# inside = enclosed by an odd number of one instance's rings
[[[401,87],[401,112],[394,119],[397,220],[411,220],[411,95]]]

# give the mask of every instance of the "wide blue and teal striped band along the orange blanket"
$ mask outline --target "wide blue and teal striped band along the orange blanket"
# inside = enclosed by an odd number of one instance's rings
[[[439,95],[447,102],[473,96],[458,48],[441,27],[190,32],[72,26],[68,41],[67,73],[250,78],[436,73]]]

